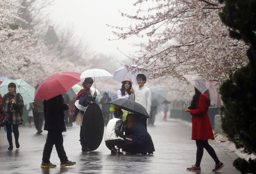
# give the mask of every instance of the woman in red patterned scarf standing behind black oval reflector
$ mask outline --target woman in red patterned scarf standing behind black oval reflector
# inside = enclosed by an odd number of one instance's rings
[[[92,94],[93,92],[91,91],[91,85],[93,85],[93,79],[91,77],[86,77],[84,82],[82,83],[83,89],[81,89],[78,94],[76,95],[75,98],[75,104],[74,104],[74,113],[73,113],[73,122],[76,120],[76,125],[80,125],[80,144],[82,146],[82,151],[90,151],[86,145],[85,145],[85,140],[83,136],[83,131],[82,131],[82,122],[83,122],[83,116],[84,116],[84,111],[86,107],[83,107],[82,105],[79,104],[79,99],[83,98],[85,103],[96,103],[96,96],[97,92],[94,92],[94,95]]]

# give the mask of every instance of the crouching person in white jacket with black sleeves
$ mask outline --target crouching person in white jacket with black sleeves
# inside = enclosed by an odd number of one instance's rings
[[[123,111],[121,109],[116,109],[114,111],[114,117],[108,122],[106,127],[106,132],[104,136],[104,141],[112,154],[123,154],[120,152],[120,149],[114,149],[116,145],[124,143],[124,140],[127,139],[131,141],[130,138],[126,138],[123,133]]]

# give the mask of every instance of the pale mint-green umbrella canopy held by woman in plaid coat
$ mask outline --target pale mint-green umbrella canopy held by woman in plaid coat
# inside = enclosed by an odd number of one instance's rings
[[[20,93],[23,98],[24,105],[34,102],[35,89],[22,79],[5,79],[0,85],[1,95],[9,92],[9,83],[16,84],[16,93]]]

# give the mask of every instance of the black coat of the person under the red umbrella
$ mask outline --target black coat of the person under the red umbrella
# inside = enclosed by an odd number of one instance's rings
[[[69,109],[64,104],[62,95],[44,100],[44,130],[65,130],[64,110]]]

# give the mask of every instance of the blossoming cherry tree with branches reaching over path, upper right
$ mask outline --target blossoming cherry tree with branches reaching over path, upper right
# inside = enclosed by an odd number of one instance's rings
[[[134,6],[139,6],[135,15],[120,12],[134,24],[109,26],[116,39],[146,38],[140,54],[128,57],[151,71],[151,78],[185,80],[183,74],[197,73],[222,84],[230,71],[247,65],[248,46],[228,36],[218,16],[223,4],[217,0],[138,0]]]

